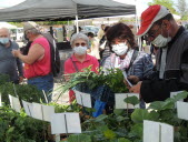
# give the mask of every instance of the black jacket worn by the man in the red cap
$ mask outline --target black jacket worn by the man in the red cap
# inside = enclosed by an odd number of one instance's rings
[[[188,91],[188,31],[182,27],[168,43],[164,79],[159,79],[161,50],[157,55],[157,78],[142,81],[140,94],[146,102],[164,101],[174,91]]]

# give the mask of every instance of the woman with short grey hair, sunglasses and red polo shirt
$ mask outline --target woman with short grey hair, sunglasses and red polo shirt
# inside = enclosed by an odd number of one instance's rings
[[[72,48],[72,55],[65,62],[65,74],[82,71],[82,69],[91,65],[91,71],[98,72],[99,62],[98,60],[87,54],[89,48],[89,39],[83,33],[75,33],[70,41]],[[69,80],[67,77],[66,80]],[[75,99],[73,91],[69,91],[69,101]]]

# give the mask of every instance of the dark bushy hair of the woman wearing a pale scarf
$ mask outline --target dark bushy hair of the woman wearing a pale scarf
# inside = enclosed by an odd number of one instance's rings
[[[133,48],[135,36],[130,28],[123,23],[117,23],[107,31],[107,40],[111,44],[115,39],[127,40],[128,43]]]

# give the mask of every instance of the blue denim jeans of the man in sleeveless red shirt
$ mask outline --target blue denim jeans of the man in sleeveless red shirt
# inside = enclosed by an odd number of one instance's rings
[[[48,95],[53,90],[53,75],[48,74],[43,77],[28,79],[28,84],[36,85],[38,90],[43,90]],[[51,101],[51,94],[47,97],[49,102]]]

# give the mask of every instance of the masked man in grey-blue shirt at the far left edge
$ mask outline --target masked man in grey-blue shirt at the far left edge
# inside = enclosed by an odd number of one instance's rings
[[[8,74],[10,81],[17,84],[23,80],[22,62],[11,51],[18,49],[19,45],[10,40],[9,30],[0,28],[0,73]]]

